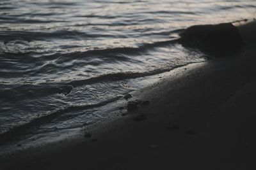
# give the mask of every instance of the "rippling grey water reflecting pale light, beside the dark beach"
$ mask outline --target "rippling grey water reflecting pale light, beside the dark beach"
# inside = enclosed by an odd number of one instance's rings
[[[206,59],[172,41],[182,29],[253,18],[255,7],[254,0],[1,1],[0,136],[49,141],[104,120],[115,101],[157,74]]]

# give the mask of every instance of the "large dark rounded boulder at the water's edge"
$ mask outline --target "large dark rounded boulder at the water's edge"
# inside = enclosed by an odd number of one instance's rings
[[[184,46],[196,47],[218,56],[240,50],[242,38],[231,23],[194,25],[180,34]]]

